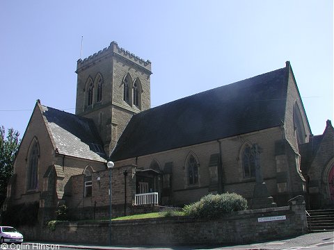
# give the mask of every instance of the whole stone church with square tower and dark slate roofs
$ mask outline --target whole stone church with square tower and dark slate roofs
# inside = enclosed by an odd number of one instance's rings
[[[184,206],[209,193],[251,201],[261,181],[277,206],[302,194],[334,206],[333,126],[312,135],[289,62],[281,69],[150,108],[149,60],[110,46],[77,61],[75,115],[38,100],[3,210],[65,204],[77,219]],[[257,151],[255,151],[255,149]]]

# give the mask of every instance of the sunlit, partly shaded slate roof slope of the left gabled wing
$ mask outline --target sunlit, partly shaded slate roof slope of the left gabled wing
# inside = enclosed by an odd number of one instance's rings
[[[88,160],[106,161],[102,140],[92,120],[40,104],[38,106],[51,142],[58,153]]]

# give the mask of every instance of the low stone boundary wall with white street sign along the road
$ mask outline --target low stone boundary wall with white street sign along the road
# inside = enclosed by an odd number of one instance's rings
[[[109,223],[62,222],[54,231],[22,227],[25,240],[42,242],[109,243]],[[112,244],[246,244],[307,233],[305,203],[234,212],[221,219],[164,217],[113,221]]]

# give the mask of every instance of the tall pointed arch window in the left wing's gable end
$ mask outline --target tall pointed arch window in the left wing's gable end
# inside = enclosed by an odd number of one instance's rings
[[[27,190],[35,190],[38,188],[38,141],[33,140],[28,157],[28,172],[27,172]]]

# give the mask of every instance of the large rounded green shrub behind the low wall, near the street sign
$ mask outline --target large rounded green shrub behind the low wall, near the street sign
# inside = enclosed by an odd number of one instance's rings
[[[216,218],[246,209],[246,199],[235,193],[208,194],[200,201],[184,206],[186,215],[197,218]]]

